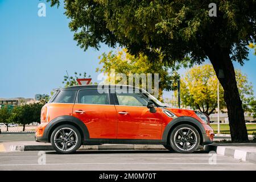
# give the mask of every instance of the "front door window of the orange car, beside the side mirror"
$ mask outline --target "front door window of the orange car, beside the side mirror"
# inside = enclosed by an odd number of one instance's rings
[[[141,93],[116,93],[119,105],[147,106],[148,99]]]

